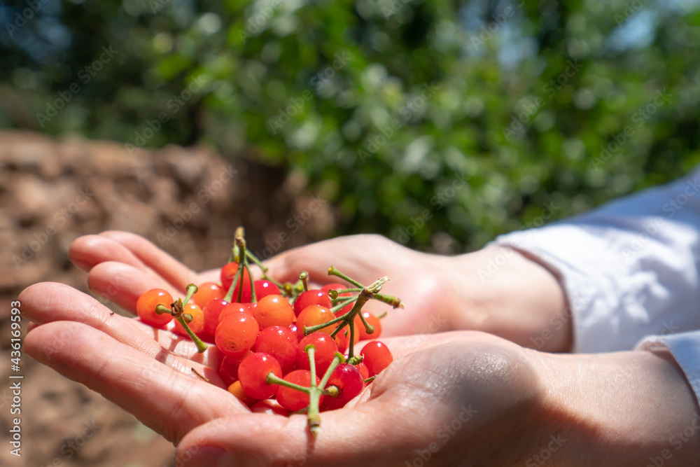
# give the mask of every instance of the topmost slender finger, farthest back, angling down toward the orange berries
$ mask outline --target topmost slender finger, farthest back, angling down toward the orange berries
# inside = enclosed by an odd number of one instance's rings
[[[197,273],[144,237],[131,232],[108,230],[100,235],[113,239],[130,250],[146,266],[179,290],[185,290],[188,284],[197,280]]]

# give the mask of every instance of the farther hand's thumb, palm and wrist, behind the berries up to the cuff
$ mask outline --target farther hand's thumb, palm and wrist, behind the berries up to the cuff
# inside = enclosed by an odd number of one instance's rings
[[[365,285],[390,277],[381,293],[397,295],[405,309],[388,313],[382,335],[481,330],[521,345],[542,340],[539,350],[571,346],[570,312],[559,281],[536,258],[513,249],[486,246],[440,256],[380,235],[352,235],[285,251],[267,265],[286,281],[307,270],[321,284],[337,282],[328,276],[330,265]],[[386,305],[372,300],[366,309],[381,313]],[[543,331],[546,340],[539,338]]]

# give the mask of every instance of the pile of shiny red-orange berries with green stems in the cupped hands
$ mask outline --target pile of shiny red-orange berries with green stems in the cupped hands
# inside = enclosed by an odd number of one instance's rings
[[[235,238],[221,284],[190,284],[184,300],[153,288],[139,297],[139,318],[189,337],[200,352],[205,341],[216,343],[224,354],[219,376],[230,393],[253,412],[307,413],[315,435],[319,412],[343,407],[393,361],[376,340],[355,354],[358,341],[381,334],[383,316],[363,312],[363,305],[374,299],[395,308],[401,300],[379,293],[388,277],[363,286],[335,267],[328,274],[349,285],[311,289],[306,272],[296,284],[281,284],[248,251],[242,228]],[[250,263],[262,279],[253,281]]]

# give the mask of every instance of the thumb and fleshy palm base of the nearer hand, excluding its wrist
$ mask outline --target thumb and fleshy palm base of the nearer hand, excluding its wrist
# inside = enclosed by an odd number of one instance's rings
[[[521,348],[477,332],[382,339],[395,361],[341,410],[237,414],[197,427],[177,466],[511,466],[531,446],[539,382]],[[532,438],[530,438],[533,442]],[[507,449],[503,449],[507,447]]]

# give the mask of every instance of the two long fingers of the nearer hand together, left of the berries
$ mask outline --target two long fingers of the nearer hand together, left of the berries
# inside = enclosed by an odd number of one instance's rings
[[[101,393],[167,440],[221,417],[249,412],[218,377],[221,354],[112,313],[63,284],[42,283],[20,294],[31,323],[27,353]],[[196,370],[213,384],[197,377]]]

